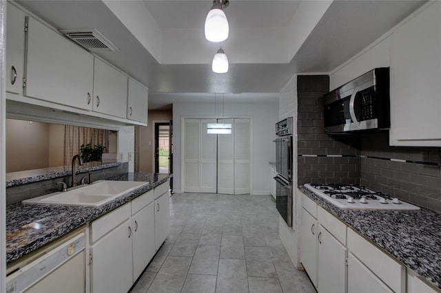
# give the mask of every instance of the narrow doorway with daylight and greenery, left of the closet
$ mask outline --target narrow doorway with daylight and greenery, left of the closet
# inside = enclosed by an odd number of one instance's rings
[[[172,121],[154,123],[154,172],[172,173]]]

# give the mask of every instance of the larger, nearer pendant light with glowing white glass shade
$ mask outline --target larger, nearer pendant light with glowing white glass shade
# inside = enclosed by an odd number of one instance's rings
[[[208,41],[222,42],[228,38],[228,20],[223,12],[228,5],[229,0],[213,0],[212,9],[205,19],[205,39]]]

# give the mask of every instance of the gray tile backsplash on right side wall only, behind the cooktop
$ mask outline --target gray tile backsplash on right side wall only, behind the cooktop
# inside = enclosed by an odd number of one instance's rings
[[[440,148],[389,146],[388,131],[366,133],[360,140],[366,157],[361,158],[360,184],[441,211]]]

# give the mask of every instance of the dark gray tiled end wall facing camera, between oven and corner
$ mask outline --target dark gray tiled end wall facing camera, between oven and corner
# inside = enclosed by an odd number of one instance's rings
[[[358,183],[358,149],[349,135],[332,137],[323,126],[323,95],[328,76],[298,76],[298,184]]]

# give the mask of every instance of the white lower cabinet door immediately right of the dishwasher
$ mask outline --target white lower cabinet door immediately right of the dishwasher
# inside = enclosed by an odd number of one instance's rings
[[[92,293],[127,292],[132,287],[132,228],[127,219],[90,247]]]

